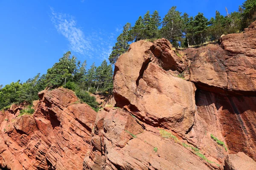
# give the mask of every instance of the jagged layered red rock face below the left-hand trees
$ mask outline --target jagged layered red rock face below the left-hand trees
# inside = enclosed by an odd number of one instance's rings
[[[96,112],[87,104],[74,104],[78,98],[64,88],[42,91],[39,96],[32,116],[1,112],[0,166],[11,170],[82,169]]]

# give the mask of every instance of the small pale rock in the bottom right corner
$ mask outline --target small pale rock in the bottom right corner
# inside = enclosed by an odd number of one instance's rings
[[[256,162],[242,152],[227,155],[225,170],[255,170]]]

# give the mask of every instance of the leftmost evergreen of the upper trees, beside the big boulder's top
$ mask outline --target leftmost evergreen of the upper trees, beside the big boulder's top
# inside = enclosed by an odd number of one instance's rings
[[[130,31],[131,23],[126,23],[123,27],[123,32],[117,37],[117,42],[112,49],[112,52],[109,56],[109,61],[111,64],[114,64],[116,60],[120,57],[120,55],[124,54],[130,47],[128,44],[129,40],[131,40]]]

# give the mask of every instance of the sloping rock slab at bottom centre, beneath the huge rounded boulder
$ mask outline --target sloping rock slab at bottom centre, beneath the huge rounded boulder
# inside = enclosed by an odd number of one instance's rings
[[[147,130],[127,111],[105,108],[98,113],[92,133],[92,152],[84,159],[90,170],[210,170],[191,151]]]

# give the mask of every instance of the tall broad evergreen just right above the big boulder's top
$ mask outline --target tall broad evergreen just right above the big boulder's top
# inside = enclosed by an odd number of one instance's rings
[[[183,20],[180,16],[181,12],[176,11],[173,6],[163,18],[163,27],[161,28],[162,37],[169,40],[174,46],[179,46],[182,40]]]

